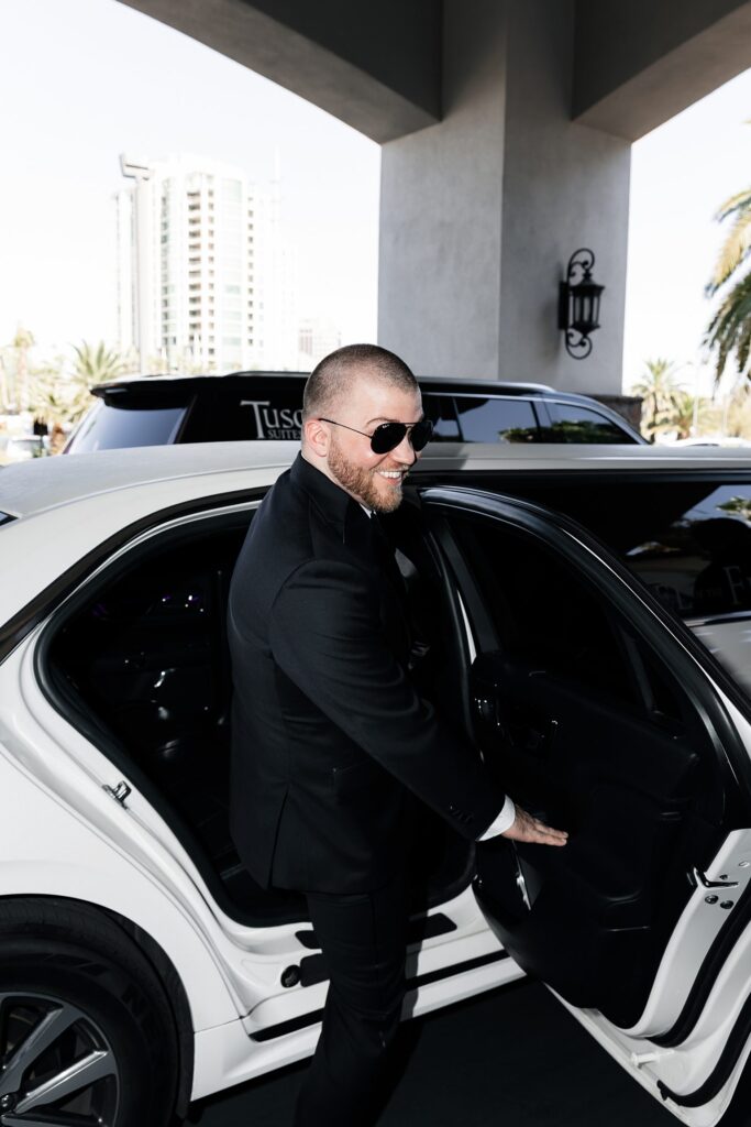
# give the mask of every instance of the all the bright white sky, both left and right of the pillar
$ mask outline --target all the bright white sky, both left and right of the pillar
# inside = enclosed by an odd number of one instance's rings
[[[0,345],[115,339],[119,153],[190,152],[259,181],[278,166],[301,316],[376,336],[378,145],[117,0],[0,3]],[[714,214],[751,179],[751,72],[633,148],[624,382],[647,358],[707,391]],[[604,314],[607,294],[604,299]]]

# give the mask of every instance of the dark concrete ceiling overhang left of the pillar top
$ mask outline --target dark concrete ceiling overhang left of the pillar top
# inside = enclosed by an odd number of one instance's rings
[[[385,143],[440,118],[441,0],[123,0]]]

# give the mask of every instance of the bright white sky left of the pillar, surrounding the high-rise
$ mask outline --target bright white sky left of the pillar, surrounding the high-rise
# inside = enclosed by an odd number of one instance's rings
[[[375,339],[375,142],[117,0],[2,0],[0,107],[0,344],[114,340],[120,152],[278,167],[301,317]]]

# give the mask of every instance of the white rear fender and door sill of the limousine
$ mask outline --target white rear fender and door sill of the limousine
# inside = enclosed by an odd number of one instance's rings
[[[242,1068],[241,1080],[299,1059],[312,1051],[318,1027],[279,1041],[259,1044],[250,1037],[323,1005],[324,984],[285,988],[280,983],[286,967],[310,955],[295,935],[306,921],[244,928],[231,920],[137,789],[125,806],[104,791],[105,784],[119,781],[117,769],[61,718],[38,689],[33,660],[39,632],[0,665],[0,700],[12,699],[10,689],[16,684],[24,706],[12,711],[0,707],[2,766],[15,770],[25,784],[23,792],[18,784],[3,786],[3,793],[17,795],[12,804],[17,818],[2,826],[9,834],[5,853],[12,860],[0,864],[0,895],[66,896],[100,905],[136,923],[159,943],[180,975],[190,1004],[196,1032],[194,1098],[238,1082],[216,1072],[226,1064],[225,1041],[231,1047],[241,1038],[243,1053],[233,1066],[233,1074]],[[457,930],[424,941],[419,951],[412,949],[410,976],[501,950],[471,889],[439,911]],[[408,1004],[411,1012],[427,1012],[521,974],[507,958],[422,986]],[[211,1030],[217,1030],[216,1036],[199,1036]],[[218,1050],[217,1045],[224,1047]],[[214,1065],[203,1059],[204,1048]]]

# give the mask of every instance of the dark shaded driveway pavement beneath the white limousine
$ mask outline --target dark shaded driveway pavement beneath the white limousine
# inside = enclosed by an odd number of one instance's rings
[[[676,1127],[545,987],[516,983],[408,1027],[378,1127]],[[287,1127],[305,1065],[207,1100],[200,1127]]]

